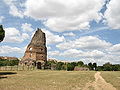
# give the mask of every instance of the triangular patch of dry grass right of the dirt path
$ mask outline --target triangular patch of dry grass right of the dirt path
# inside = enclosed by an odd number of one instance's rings
[[[117,90],[120,90],[120,71],[102,71],[101,76],[106,82],[112,84]]]

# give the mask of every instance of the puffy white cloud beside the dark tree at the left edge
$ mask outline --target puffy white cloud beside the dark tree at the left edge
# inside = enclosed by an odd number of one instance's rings
[[[20,33],[16,28],[5,28],[5,39],[4,42],[12,42],[12,43],[21,43],[26,39],[29,39],[29,35],[27,33]]]

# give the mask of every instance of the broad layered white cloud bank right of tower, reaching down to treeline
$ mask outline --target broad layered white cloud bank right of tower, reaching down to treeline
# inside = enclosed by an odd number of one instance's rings
[[[73,41],[57,44],[56,47],[60,49],[59,53],[56,53],[56,56],[68,60],[79,59],[85,63],[97,62],[99,65],[106,62],[113,64],[120,63],[120,44],[113,45],[110,42],[101,40],[100,37],[84,36]],[[50,57],[54,57],[50,53],[49,55]]]

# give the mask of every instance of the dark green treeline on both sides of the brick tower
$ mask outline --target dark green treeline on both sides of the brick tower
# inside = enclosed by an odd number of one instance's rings
[[[19,64],[19,60],[0,59],[0,66],[15,66]],[[120,71],[120,64],[105,63],[102,66],[97,66],[97,63],[84,64],[82,61],[78,62],[58,62],[56,60],[48,60],[45,69],[50,70],[91,70],[91,71]]]

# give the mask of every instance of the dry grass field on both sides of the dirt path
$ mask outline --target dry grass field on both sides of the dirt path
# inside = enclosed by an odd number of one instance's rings
[[[0,90],[94,90],[96,85],[101,88],[105,85],[94,77],[95,73],[50,70],[0,71]],[[101,76],[107,83],[120,90],[120,71],[104,71],[101,72]],[[100,78],[99,75],[97,77]],[[88,88],[83,89],[86,86]]]

